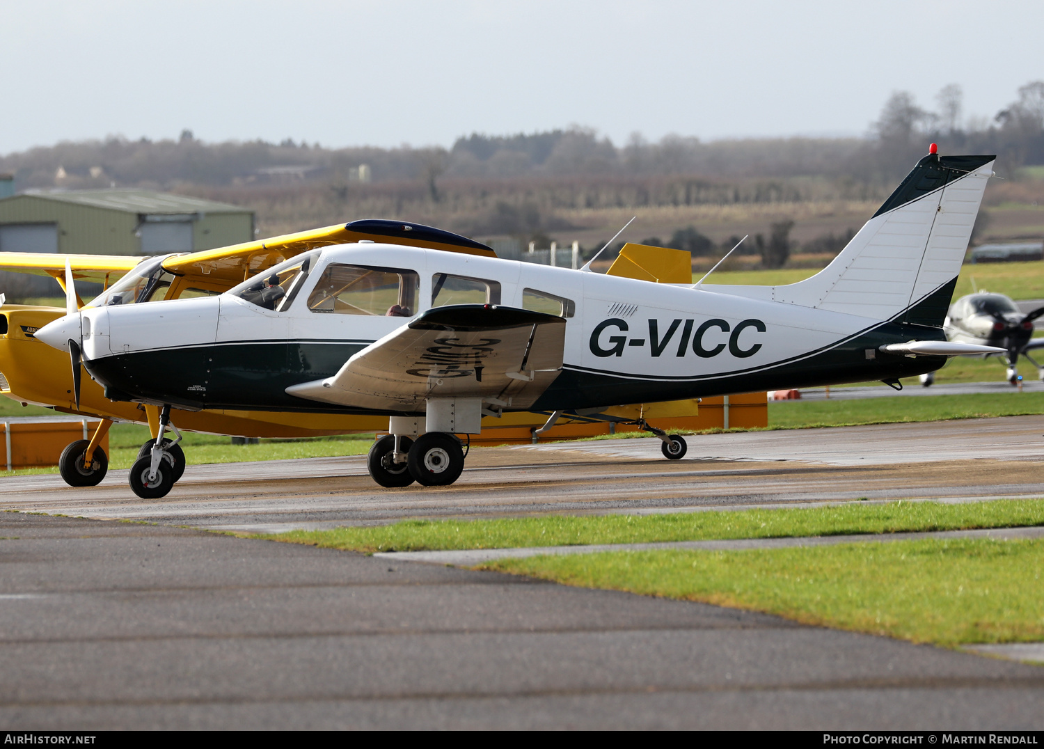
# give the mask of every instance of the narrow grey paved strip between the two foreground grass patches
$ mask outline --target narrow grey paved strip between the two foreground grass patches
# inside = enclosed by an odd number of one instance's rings
[[[403,562],[426,562],[469,567],[495,559],[521,559],[525,557],[598,554],[599,552],[660,552],[665,549],[702,552],[740,552],[757,548],[792,548],[804,546],[832,546],[838,543],[882,543],[889,541],[919,541],[922,539],[989,538],[995,541],[1014,541],[1044,538],[1044,526],[999,528],[975,531],[935,531],[928,533],[864,533],[851,536],[799,536],[793,538],[738,538],[714,541],[663,541],[657,543],[602,543],[577,546],[530,546],[528,548],[475,548],[452,552],[378,552],[375,557]]]

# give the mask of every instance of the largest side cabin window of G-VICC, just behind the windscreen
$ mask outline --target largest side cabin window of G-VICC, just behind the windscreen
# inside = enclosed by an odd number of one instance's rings
[[[331,263],[308,297],[313,312],[411,318],[421,277],[413,271]]]

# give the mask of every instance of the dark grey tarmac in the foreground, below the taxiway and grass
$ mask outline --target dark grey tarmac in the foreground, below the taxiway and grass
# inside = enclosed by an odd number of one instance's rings
[[[0,515],[0,723],[1040,729],[1044,671],[166,525]]]

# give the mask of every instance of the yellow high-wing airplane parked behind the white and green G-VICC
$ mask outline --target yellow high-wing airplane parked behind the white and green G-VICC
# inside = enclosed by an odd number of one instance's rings
[[[454,253],[496,257],[492,249],[466,237],[420,225],[387,220],[358,220],[263,239],[228,248],[160,258],[103,255],[41,255],[0,253],[0,270],[47,275],[66,288],[66,264],[74,279],[103,284],[103,290],[88,306],[100,306],[133,295],[136,303],[187,299],[221,294],[243,280],[264,272],[300,253],[318,247],[350,242],[379,241]],[[688,253],[628,244],[610,270],[612,275],[683,283],[691,280]],[[126,303],[125,299],[123,303]],[[85,306],[77,296],[78,306]],[[101,387],[88,379],[80,383],[80,367],[74,364],[70,377],[63,352],[43,345],[33,333],[61,318],[66,310],[4,304],[0,307],[0,393],[23,403],[53,407],[55,411],[100,418],[90,440],[70,443],[60,459],[60,472],[70,486],[96,486],[108,471],[108,457],[97,448],[115,421],[147,423],[152,439],[142,446],[151,448],[159,434],[159,407],[113,401]],[[620,406],[609,417],[633,421],[642,416],[684,417],[695,415],[695,401],[657,404],[655,411],[642,406]],[[501,426],[540,427],[546,415],[504,415]],[[342,414],[293,414],[263,411],[204,409],[179,413],[177,424],[188,431],[266,438],[300,438],[372,432],[387,428],[387,418]],[[180,438],[179,438],[180,440]],[[176,444],[165,442],[177,477],[185,468],[185,455]]]

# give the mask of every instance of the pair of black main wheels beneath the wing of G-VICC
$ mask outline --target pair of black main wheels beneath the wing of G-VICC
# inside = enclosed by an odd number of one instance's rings
[[[417,440],[401,435],[382,437],[370,448],[366,467],[382,487],[447,487],[460,477],[467,457],[456,435],[428,431]]]

